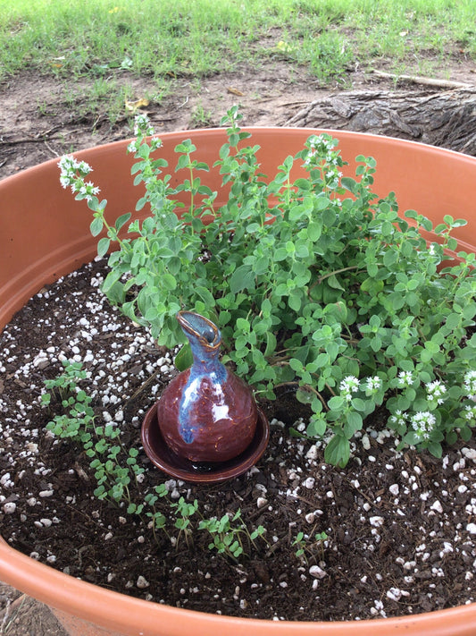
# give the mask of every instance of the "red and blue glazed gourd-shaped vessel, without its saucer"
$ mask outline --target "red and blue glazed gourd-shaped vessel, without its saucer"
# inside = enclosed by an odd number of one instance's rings
[[[221,334],[213,322],[180,311],[193,365],[167,386],[157,404],[165,443],[191,462],[228,462],[255,437],[258,411],[251,389],[218,359]]]

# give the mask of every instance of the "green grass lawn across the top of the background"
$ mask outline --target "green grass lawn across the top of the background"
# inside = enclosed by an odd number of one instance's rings
[[[474,0],[0,0],[0,79],[204,77],[279,56],[326,82],[382,58],[428,72],[429,55],[476,57]]]

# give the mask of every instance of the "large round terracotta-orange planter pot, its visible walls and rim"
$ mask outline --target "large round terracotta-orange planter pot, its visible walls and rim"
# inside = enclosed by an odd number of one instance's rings
[[[277,165],[302,148],[309,129],[255,129],[263,173],[275,174]],[[446,214],[463,216],[469,225],[455,232],[460,249],[476,251],[476,159],[411,141],[352,132],[332,132],[340,140],[347,161],[364,154],[377,159],[374,187],[381,195],[397,193],[401,210],[414,208],[435,223]],[[224,131],[188,131],[163,135],[163,156],[175,165],[173,148],[191,138],[201,160],[213,164],[225,140]],[[93,165],[94,181],[108,199],[115,218],[133,210],[140,196],[128,178],[131,158],[127,141],[84,150],[78,157]],[[31,295],[96,254],[96,240],[88,230],[90,216],[71,193],[59,186],[56,160],[30,168],[0,182],[0,327]],[[354,165],[349,166],[352,174]],[[173,174],[172,179],[177,179]],[[208,185],[218,189],[216,172]],[[223,200],[224,193],[218,199]],[[221,201],[218,200],[220,205]],[[459,232],[459,235],[458,235]],[[426,615],[352,623],[287,623],[207,615],[127,597],[74,579],[21,555],[0,540],[0,580],[38,598],[77,636],[472,636],[476,604]]]

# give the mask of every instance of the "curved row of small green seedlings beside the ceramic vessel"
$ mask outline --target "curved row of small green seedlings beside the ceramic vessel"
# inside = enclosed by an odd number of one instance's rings
[[[171,499],[165,483],[144,491],[140,485],[145,470],[138,464],[138,449],[121,443],[119,426],[96,424],[92,398],[78,386],[86,376],[80,362],[63,360],[63,374],[46,380],[48,391],[41,395],[40,401],[54,411],[58,410],[55,399],[61,403],[63,412],[56,413],[46,429],[55,437],[82,446],[96,479],[94,496],[97,499],[119,505],[128,514],[138,516],[152,528],[156,539],[158,532],[162,532],[176,548],[182,540],[191,547],[195,533],[203,531],[213,539],[209,549],[238,561],[251,547],[258,548],[257,538],[265,541],[263,526],[249,530],[239,510],[231,519],[228,513],[220,520],[208,519],[199,510],[196,500],[190,503],[183,496]]]

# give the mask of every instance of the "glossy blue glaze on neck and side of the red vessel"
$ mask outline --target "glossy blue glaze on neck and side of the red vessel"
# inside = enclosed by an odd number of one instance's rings
[[[228,406],[224,403],[221,386],[226,382],[227,369],[218,359],[221,334],[217,326],[198,314],[180,312],[180,326],[188,338],[193,355],[188,381],[183,387],[179,406],[179,432],[186,444],[191,444],[196,431],[205,422],[196,421],[196,403],[204,399],[202,383],[208,380],[213,389],[213,415],[217,420],[226,417]],[[221,412],[222,410],[222,412]]]

